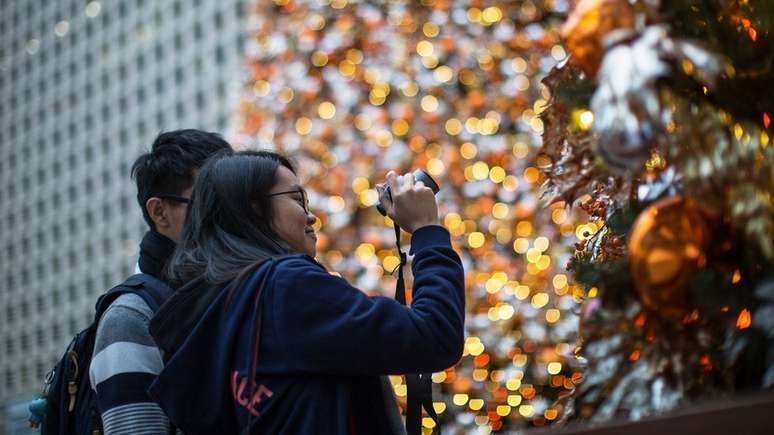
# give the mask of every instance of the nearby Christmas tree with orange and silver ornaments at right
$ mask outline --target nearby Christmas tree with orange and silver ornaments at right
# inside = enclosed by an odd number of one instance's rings
[[[774,384],[774,3],[582,0],[545,79],[545,194],[596,223],[569,264],[565,418]]]

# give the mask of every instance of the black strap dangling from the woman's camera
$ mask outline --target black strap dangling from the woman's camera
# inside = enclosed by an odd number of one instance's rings
[[[395,288],[395,299],[402,305],[406,305],[406,281],[403,278],[403,266],[408,262],[408,256],[400,249],[400,227],[395,228],[395,244],[400,255],[398,266],[398,283]],[[438,433],[441,433],[441,422],[433,408],[433,385],[430,373],[406,374],[406,431],[408,435],[422,434],[422,408],[435,421]]]

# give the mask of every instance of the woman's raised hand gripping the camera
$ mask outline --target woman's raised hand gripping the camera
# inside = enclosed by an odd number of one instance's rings
[[[390,198],[384,185],[376,186],[379,199],[387,211],[387,216],[408,233],[413,233],[427,225],[438,225],[438,204],[433,191],[421,181],[414,181],[414,174],[398,176],[387,173],[390,186]]]

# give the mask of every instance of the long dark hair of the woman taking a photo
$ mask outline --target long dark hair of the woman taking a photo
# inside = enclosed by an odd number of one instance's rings
[[[268,194],[280,166],[295,173],[286,157],[271,151],[215,156],[202,167],[167,265],[172,286],[201,276],[210,285],[224,285],[263,260],[292,252],[271,227]]]

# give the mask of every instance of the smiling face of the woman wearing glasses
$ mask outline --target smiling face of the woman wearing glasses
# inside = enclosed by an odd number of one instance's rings
[[[284,166],[277,168],[277,183],[269,197],[274,207],[274,231],[294,251],[314,257],[317,236],[312,225],[317,218],[307,211],[306,192],[296,174]]]

